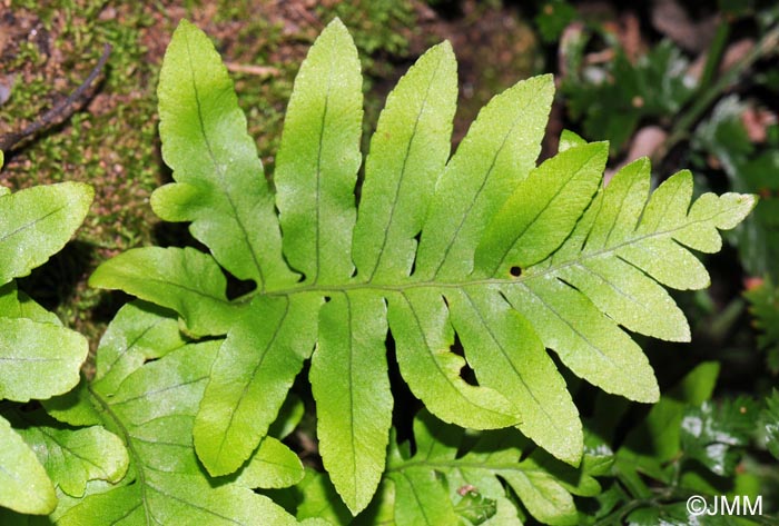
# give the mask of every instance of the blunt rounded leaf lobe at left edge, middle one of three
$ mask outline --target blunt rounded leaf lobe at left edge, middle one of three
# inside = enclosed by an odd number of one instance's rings
[[[72,330],[27,318],[0,318],[0,399],[28,401],[70,390],[79,383],[87,339]]]

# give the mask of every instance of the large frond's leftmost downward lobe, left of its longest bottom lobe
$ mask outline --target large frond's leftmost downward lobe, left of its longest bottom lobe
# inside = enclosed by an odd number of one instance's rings
[[[258,297],[236,320],[210,370],[195,447],[211,475],[235,472],[276,418],[316,338],[315,296]]]

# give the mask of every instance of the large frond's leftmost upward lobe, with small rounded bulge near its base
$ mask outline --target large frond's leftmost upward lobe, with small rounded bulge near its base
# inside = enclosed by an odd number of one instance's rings
[[[208,38],[186,20],[168,46],[157,95],[160,133],[168,138],[162,157],[176,182],[151,196],[155,211],[169,221],[193,221],[193,236],[237,278],[260,288],[294,282],[233,82]]]

